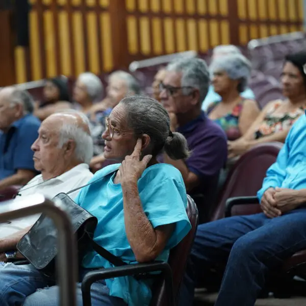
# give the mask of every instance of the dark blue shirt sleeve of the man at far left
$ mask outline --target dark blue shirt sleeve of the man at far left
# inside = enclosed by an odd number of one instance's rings
[[[18,129],[17,145],[14,149],[14,170],[27,169],[36,171],[34,168],[32,144],[38,137],[39,124],[23,125]]]

